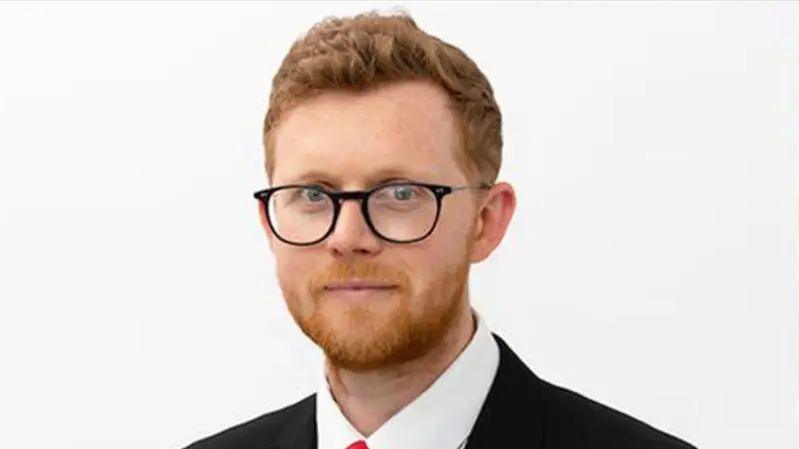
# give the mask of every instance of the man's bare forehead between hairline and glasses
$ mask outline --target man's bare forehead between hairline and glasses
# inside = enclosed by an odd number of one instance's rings
[[[427,81],[324,92],[289,110],[273,132],[275,184],[310,176],[341,185],[382,176],[442,181],[460,172],[456,114]]]

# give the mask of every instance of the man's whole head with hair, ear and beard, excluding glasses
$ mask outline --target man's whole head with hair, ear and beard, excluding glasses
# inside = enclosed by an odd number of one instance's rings
[[[344,201],[326,239],[291,245],[275,237],[259,202],[289,311],[333,364],[363,370],[417,358],[469,313],[469,266],[496,248],[515,207],[511,187],[494,184],[500,128],[477,66],[408,16],[328,19],[292,46],[264,125],[271,185],[493,184],[443,197],[432,233],[407,244],[381,239],[360,204]],[[386,288],[329,288],[352,280]]]

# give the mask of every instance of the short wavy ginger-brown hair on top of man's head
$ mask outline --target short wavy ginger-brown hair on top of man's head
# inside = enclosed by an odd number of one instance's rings
[[[467,179],[493,184],[502,160],[502,115],[488,79],[457,47],[422,31],[404,12],[327,17],[291,46],[272,80],[264,119],[265,168],[274,169],[272,130],[304,99],[332,89],[429,80],[451,99],[461,127],[456,159]]]

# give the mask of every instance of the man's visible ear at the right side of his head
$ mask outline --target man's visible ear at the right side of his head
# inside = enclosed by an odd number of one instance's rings
[[[499,246],[508,229],[513,211],[516,210],[516,194],[507,182],[491,187],[478,203],[471,252],[472,263],[480,262]]]

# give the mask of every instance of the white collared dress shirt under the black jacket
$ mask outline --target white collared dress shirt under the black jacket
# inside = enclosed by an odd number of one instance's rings
[[[330,393],[325,361],[316,395],[318,449],[346,449],[365,440],[369,449],[458,449],[466,446],[499,367],[499,346],[483,318],[472,339],[449,367],[419,396],[368,438],[341,412]]]

